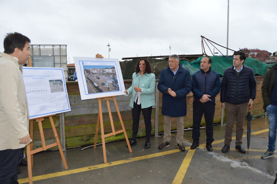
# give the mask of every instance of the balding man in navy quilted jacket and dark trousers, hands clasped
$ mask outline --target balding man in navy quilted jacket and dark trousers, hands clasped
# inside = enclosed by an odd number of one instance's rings
[[[215,96],[220,91],[219,73],[211,70],[211,58],[204,57],[200,70],[192,75],[191,91],[193,93],[193,129],[191,150],[199,146],[200,123],[204,113],[206,122],[206,148],[212,151],[213,122],[215,115]]]

